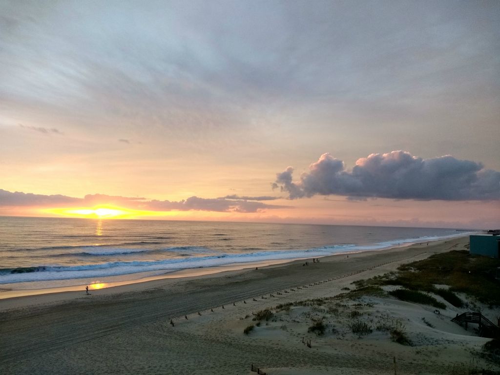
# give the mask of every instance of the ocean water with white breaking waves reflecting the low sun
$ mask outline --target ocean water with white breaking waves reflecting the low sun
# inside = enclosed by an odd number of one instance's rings
[[[449,228],[0,217],[0,288],[132,280],[462,235]]]

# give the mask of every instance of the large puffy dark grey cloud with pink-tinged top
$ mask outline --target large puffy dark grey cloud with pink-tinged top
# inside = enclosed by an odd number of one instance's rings
[[[500,199],[500,172],[453,156],[422,159],[407,151],[372,153],[346,169],[342,160],[323,153],[293,182],[293,167],[276,174],[273,188],[290,199],[313,195],[346,195],[422,200]]]

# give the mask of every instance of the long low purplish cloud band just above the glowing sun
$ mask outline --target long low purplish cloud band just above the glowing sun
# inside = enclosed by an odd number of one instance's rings
[[[106,194],[87,194],[83,198],[75,198],[66,195],[43,195],[24,193],[20,191],[10,192],[0,189],[0,207],[2,206],[38,206],[54,207],[64,205],[86,205],[112,204],[126,208],[151,210],[151,211],[217,211],[217,212],[261,212],[264,209],[289,208],[283,205],[271,205],[262,202],[248,201],[244,199],[226,198],[200,198],[191,196],[179,201],[170,200],[148,200],[144,197],[112,196]]]

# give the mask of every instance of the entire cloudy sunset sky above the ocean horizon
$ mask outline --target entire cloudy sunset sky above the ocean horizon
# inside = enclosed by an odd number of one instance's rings
[[[498,1],[2,0],[0,215],[499,227],[499,25]]]

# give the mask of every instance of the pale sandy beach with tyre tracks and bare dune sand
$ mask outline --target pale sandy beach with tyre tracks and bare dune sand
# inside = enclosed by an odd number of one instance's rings
[[[436,315],[431,306],[395,299],[333,297],[354,288],[354,280],[466,243],[468,237],[462,237],[310,259],[307,266],[294,261],[153,280],[92,290],[88,296],[83,290],[3,299],[0,372],[247,374],[255,373],[253,363],[269,374],[385,374],[394,373],[395,358],[398,373],[447,373],[480,361],[473,351],[488,340],[449,321],[459,309],[449,305]],[[329,301],[331,333],[319,337],[307,331],[311,314],[321,313],[314,306],[276,311],[274,321],[243,333],[254,312],[309,298]],[[397,344],[380,332],[363,338],[347,332],[344,320],[352,309],[370,316],[373,324],[401,319],[415,344]],[[491,318],[495,313],[489,311]]]

